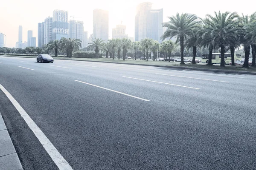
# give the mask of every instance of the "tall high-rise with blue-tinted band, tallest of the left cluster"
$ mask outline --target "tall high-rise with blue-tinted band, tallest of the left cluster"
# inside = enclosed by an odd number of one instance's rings
[[[52,40],[68,38],[68,11],[54,10],[52,17]]]

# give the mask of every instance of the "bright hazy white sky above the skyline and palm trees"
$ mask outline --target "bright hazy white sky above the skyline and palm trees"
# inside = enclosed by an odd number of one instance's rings
[[[112,28],[121,21],[126,25],[126,34],[134,37],[134,17],[136,6],[144,0],[1,0],[0,32],[7,35],[7,47],[15,47],[18,41],[18,27],[23,26],[23,41],[27,41],[27,31],[33,31],[38,41],[38,23],[48,16],[52,17],[54,9],[67,10],[75,20],[84,21],[84,31],[88,37],[93,33],[93,9],[101,8],[109,11],[109,37]],[[239,14],[252,14],[256,11],[252,1],[235,0],[151,0],[152,8],[163,8],[163,21],[167,16],[179,13],[196,14],[204,17],[214,11],[236,11]],[[246,5],[244,5],[246,4]],[[250,5],[251,4],[251,5]]]

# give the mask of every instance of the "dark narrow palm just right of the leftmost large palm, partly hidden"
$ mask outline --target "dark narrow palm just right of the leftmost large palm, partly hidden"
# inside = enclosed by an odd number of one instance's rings
[[[192,48],[193,49],[193,59],[192,59],[192,64],[195,64],[195,57],[196,57],[196,51],[197,51],[197,46],[199,45],[198,39],[201,37],[202,29],[198,25],[198,27],[192,29],[192,34],[189,35],[188,39],[185,42],[185,46],[187,49]]]

